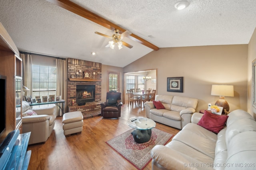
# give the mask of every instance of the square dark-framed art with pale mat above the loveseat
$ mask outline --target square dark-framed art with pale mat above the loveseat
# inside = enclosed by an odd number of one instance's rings
[[[167,77],[167,92],[183,92],[183,77]]]

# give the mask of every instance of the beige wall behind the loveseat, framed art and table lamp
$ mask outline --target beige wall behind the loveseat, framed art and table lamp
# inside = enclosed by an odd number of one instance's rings
[[[248,45],[216,45],[162,48],[124,67],[124,72],[157,69],[157,94],[198,99],[207,109],[218,96],[211,96],[212,84],[234,85],[234,97],[226,97],[230,111],[247,109]],[[167,77],[184,77],[184,92],[167,92]]]

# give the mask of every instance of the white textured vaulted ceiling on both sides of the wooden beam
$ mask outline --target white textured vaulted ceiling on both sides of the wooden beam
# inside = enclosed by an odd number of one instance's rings
[[[159,48],[248,44],[256,27],[256,0],[188,0],[184,10],[179,0],[71,1]],[[94,32],[113,31],[46,0],[0,0],[0,22],[20,51],[120,67],[152,51],[128,37],[132,49],[106,48]]]

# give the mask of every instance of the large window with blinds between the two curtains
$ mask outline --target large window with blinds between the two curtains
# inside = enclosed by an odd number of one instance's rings
[[[35,96],[40,96],[42,100],[42,96],[47,96],[47,98],[49,98],[49,95],[56,95],[56,67],[33,65],[32,72],[33,98],[35,98]]]

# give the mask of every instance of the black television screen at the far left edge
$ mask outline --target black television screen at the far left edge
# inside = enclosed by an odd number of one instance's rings
[[[5,129],[5,123],[6,123],[6,76],[0,75],[0,108],[2,110],[0,111],[0,134],[4,131]]]

